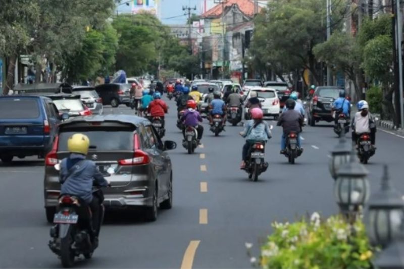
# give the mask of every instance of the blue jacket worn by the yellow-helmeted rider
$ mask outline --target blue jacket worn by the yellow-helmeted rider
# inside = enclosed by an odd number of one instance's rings
[[[59,177],[61,194],[75,195],[90,203],[94,180],[102,187],[108,186],[108,181],[99,173],[95,164],[86,160],[84,155],[72,153],[62,160]]]

